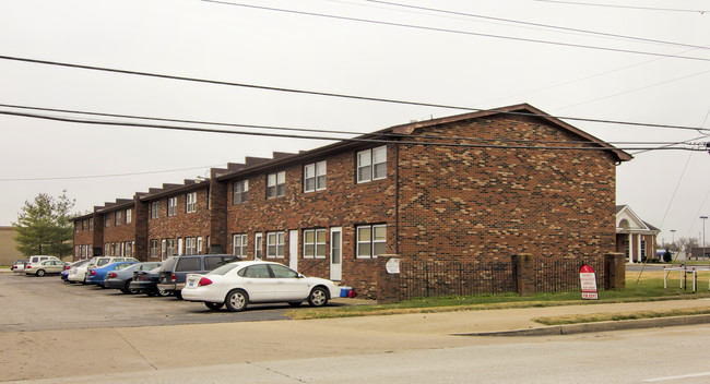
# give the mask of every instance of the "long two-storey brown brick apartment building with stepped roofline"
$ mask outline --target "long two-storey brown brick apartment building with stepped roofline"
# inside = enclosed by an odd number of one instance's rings
[[[247,157],[76,218],[75,257],[234,253],[371,291],[379,254],[476,263],[613,252],[615,167],[631,157],[544,115],[518,105]]]

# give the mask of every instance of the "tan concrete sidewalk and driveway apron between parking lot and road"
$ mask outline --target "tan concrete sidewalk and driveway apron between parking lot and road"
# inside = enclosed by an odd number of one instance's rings
[[[338,299],[347,302],[348,299]],[[353,301],[357,302],[357,301]],[[710,308],[710,300],[673,300],[512,310],[416,313],[309,321],[0,333],[0,381],[235,364],[402,350],[455,348],[512,338],[460,335],[564,335],[710,322],[685,316],[547,327],[540,316]],[[129,324],[127,324],[129,325]],[[536,339],[536,338],[533,338]],[[531,340],[533,340],[531,339]],[[507,341],[510,340],[510,341]],[[537,343],[537,341],[535,341]],[[11,352],[10,352],[11,351]]]

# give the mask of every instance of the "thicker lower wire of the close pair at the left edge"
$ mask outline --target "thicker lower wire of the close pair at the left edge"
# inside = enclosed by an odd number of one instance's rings
[[[269,136],[269,137],[285,137],[285,139],[304,139],[304,140],[321,140],[321,141],[341,141],[341,142],[362,142],[362,143],[381,143],[381,144],[402,144],[402,145],[426,145],[426,146],[452,146],[452,147],[468,147],[468,148],[500,148],[500,149],[554,149],[554,151],[627,151],[627,149],[673,149],[673,151],[706,151],[700,148],[699,144],[691,144],[686,147],[677,146],[662,146],[662,147],[631,147],[631,148],[620,148],[620,147],[604,147],[599,146],[599,144],[593,142],[588,142],[587,144],[592,144],[594,146],[547,146],[547,145],[510,145],[510,144],[471,144],[471,143],[439,143],[439,142],[425,142],[425,141],[404,141],[404,140],[392,140],[392,139],[375,139],[379,134],[371,133],[368,134],[370,137],[352,137],[352,139],[338,139],[338,137],[323,137],[322,135],[296,135],[296,134],[280,134],[280,133],[261,133],[261,132],[244,132],[244,131],[229,131],[229,130],[217,130],[217,129],[201,129],[201,128],[191,128],[191,127],[175,127],[175,125],[162,125],[162,124],[146,124],[146,123],[134,123],[134,122],[120,122],[120,121],[97,121],[97,120],[83,120],[74,118],[63,118],[55,116],[43,116],[34,113],[23,113],[23,112],[12,112],[12,111],[2,111],[0,115],[51,120],[51,121],[61,121],[70,123],[82,123],[82,124],[98,124],[98,125],[110,125],[110,127],[132,127],[132,128],[146,128],[146,129],[158,129],[158,130],[173,130],[173,131],[189,131],[189,132],[201,132],[201,133],[226,133],[226,134],[237,134],[237,135],[256,135],[256,136]],[[426,137],[426,136],[423,136]],[[506,140],[500,140],[505,142]]]

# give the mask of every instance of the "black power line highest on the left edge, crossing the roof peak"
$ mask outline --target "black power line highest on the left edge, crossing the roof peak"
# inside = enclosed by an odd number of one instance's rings
[[[203,1],[208,1],[208,0],[203,0]],[[541,113],[529,113],[529,112],[502,111],[502,110],[497,110],[497,109],[471,108],[471,107],[452,106],[452,105],[434,104],[434,103],[407,101],[407,100],[399,100],[399,99],[388,99],[388,98],[382,98],[382,97],[357,96],[357,95],[346,95],[346,94],[319,92],[319,91],[283,88],[283,87],[267,86],[267,85],[234,83],[234,82],[205,80],[205,79],[177,76],[177,75],[167,75],[167,74],[158,74],[158,73],[141,72],[141,71],[129,71],[129,70],[94,67],[94,65],[72,64],[72,63],[66,63],[66,62],[38,60],[38,59],[27,59],[27,58],[12,57],[12,56],[0,56],[0,59],[11,60],[11,61],[29,62],[29,63],[35,63],[35,64],[56,65],[56,67],[64,67],[64,68],[72,68],[72,69],[83,69],[83,70],[92,70],[92,71],[103,71],[103,72],[111,72],[111,73],[130,74],[130,75],[138,75],[138,76],[149,76],[149,77],[158,77],[158,79],[167,79],[167,80],[178,80],[178,81],[186,81],[186,82],[193,82],[193,83],[205,83],[205,84],[214,84],[214,85],[237,86],[237,87],[244,87],[244,88],[250,88],[250,89],[284,92],[284,93],[293,93],[293,94],[300,94],[300,95],[315,95],[315,96],[347,98],[347,99],[364,100],[364,101],[379,101],[379,103],[411,105],[411,106],[418,106],[418,107],[458,109],[458,110],[468,110],[468,111],[474,111],[474,112],[496,112],[496,113],[511,115],[511,116],[526,116],[526,117],[532,116],[532,117],[542,117],[542,118],[554,118],[554,119],[564,119],[564,120],[573,120],[573,121],[605,123],[605,124],[619,124],[619,125],[635,125],[635,127],[647,127],[647,128],[667,128],[667,129],[678,129],[678,130],[705,131],[705,129],[698,128],[698,127],[658,124],[658,123],[642,123],[642,122],[606,120],[606,119],[576,118],[576,117],[566,117],[566,116],[553,116],[553,115],[541,115]]]

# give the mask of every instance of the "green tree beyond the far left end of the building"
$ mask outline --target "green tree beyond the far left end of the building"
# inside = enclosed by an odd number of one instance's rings
[[[46,193],[38,194],[34,201],[26,201],[17,214],[15,228],[17,251],[29,256],[34,254],[63,257],[72,253],[73,228],[70,211],[74,201],[67,191],[55,199]]]

